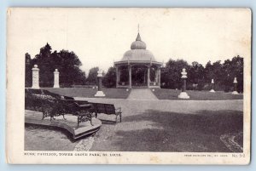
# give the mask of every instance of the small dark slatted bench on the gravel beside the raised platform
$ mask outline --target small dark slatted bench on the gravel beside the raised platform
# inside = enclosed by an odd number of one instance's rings
[[[107,115],[115,115],[115,122],[117,123],[117,117],[120,117],[120,123],[122,122],[122,111],[121,107],[115,108],[113,104],[104,104],[104,103],[91,103],[93,105],[93,108],[91,112],[95,112],[95,116],[99,113],[107,114]]]

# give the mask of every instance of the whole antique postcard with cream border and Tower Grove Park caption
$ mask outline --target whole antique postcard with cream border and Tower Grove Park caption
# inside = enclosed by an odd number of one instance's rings
[[[250,9],[9,8],[7,24],[7,162],[250,162]]]

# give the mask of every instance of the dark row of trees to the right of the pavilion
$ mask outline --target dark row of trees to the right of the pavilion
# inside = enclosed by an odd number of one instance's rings
[[[231,91],[234,88],[234,78],[237,78],[237,89],[243,91],[243,58],[235,56],[232,60],[208,61],[204,67],[198,62],[192,65],[184,60],[169,60],[166,67],[161,71],[161,83],[163,88],[181,88],[181,71],[186,68],[188,72],[188,89],[208,90],[211,88],[211,81],[214,80],[216,90]]]

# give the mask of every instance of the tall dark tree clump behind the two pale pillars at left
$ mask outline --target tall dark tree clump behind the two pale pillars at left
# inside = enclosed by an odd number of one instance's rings
[[[29,59],[26,54],[26,59]],[[28,61],[28,60],[26,60]],[[54,84],[54,71],[60,71],[60,84],[64,87],[70,87],[73,84],[84,84],[85,73],[79,69],[82,66],[79,57],[73,52],[68,50],[61,50],[60,52],[54,51],[49,46],[49,43],[43,48],[40,48],[39,54],[30,60],[27,65],[30,68],[26,70],[26,83],[29,81],[29,76],[32,66],[35,64],[39,68],[39,84],[41,87],[52,87]]]

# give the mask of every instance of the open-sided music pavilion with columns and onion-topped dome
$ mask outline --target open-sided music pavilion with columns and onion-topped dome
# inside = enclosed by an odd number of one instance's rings
[[[160,88],[160,66],[154,55],[146,49],[146,43],[137,34],[131,43],[131,50],[125,52],[122,60],[114,62],[116,88]]]

